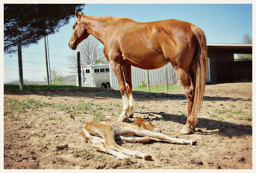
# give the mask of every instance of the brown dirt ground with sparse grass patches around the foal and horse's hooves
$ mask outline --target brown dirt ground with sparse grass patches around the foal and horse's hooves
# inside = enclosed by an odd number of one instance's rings
[[[4,91],[4,169],[252,169],[251,82],[206,85],[198,124],[189,135],[179,133],[187,111],[182,89],[134,91],[134,116],[150,120],[164,134],[197,141],[117,141],[150,154],[149,161],[118,160],[80,138],[86,122],[115,120],[122,110],[119,91],[88,90]]]

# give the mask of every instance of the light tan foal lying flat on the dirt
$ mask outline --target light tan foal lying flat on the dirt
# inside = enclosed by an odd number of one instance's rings
[[[137,121],[133,123],[97,120],[86,123],[81,130],[81,136],[86,142],[91,144],[99,151],[108,152],[116,156],[118,159],[129,159],[127,155],[137,158],[150,160],[152,157],[146,153],[136,150],[126,149],[115,143],[115,140],[123,140],[128,142],[149,142],[149,137],[155,137],[162,140],[170,140],[180,144],[195,144],[195,141],[173,138],[160,133],[160,129],[155,127],[149,121],[138,116]]]

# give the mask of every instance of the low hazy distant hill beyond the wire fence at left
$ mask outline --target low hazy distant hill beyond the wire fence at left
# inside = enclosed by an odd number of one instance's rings
[[[64,79],[63,82],[66,85],[74,85],[75,84],[75,75],[66,75],[66,76],[63,76],[63,79]],[[24,79],[23,83],[24,84],[38,84],[38,85],[47,84],[46,81],[32,81],[32,80],[27,80],[27,79]],[[17,84],[18,85],[19,80],[10,81],[10,82],[4,83],[4,84]]]

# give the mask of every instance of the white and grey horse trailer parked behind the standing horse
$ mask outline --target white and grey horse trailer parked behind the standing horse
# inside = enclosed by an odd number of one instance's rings
[[[75,75],[75,85],[79,85],[78,73]],[[110,88],[109,64],[81,65],[81,85]]]

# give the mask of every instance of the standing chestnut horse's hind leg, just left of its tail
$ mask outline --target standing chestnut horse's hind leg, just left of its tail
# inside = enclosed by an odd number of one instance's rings
[[[187,98],[186,124],[183,126],[180,132],[183,134],[188,134],[191,132],[193,128],[193,126],[191,126],[191,121],[190,121],[190,115],[191,115],[191,110],[192,110],[193,101],[194,101],[194,90],[195,90],[195,85],[194,85],[193,76],[192,76],[193,74],[189,72],[189,69],[183,69],[181,67],[176,68],[176,72],[177,72],[179,81],[183,86],[183,89]]]

